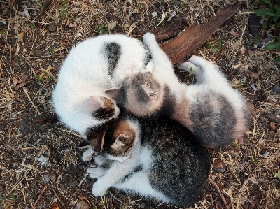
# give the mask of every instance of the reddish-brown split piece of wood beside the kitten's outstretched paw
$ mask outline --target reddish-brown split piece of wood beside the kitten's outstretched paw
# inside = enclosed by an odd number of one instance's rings
[[[195,25],[186,29],[182,34],[174,38],[172,41],[162,45],[172,63],[176,66],[184,61],[187,55],[196,50],[200,45],[204,44],[208,38],[214,34],[227,20],[229,20],[239,8],[239,2],[229,4],[221,10],[218,15],[213,17],[207,24]]]

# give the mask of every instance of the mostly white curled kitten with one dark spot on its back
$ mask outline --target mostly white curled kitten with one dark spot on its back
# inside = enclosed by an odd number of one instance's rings
[[[116,102],[104,90],[120,86],[127,75],[144,69],[149,59],[146,45],[124,35],[78,43],[64,60],[52,93],[59,120],[87,138],[98,152],[106,127],[119,114]]]

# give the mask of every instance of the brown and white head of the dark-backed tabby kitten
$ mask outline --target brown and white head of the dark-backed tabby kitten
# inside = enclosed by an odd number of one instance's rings
[[[130,119],[113,124],[102,142],[102,154],[111,160],[124,162],[130,158],[139,142],[139,124]]]

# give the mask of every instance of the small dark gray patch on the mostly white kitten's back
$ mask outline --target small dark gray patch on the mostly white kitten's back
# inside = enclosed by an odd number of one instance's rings
[[[108,59],[108,73],[112,76],[120,59],[121,46],[116,42],[105,43],[104,55]]]

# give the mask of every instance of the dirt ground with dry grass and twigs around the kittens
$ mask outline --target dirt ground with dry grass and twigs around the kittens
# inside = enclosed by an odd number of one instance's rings
[[[69,50],[108,32],[104,13],[111,34],[141,39],[162,13],[168,18],[176,11],[174,18],[185,17],[189,26],[204,24],[229,1],[104,0],[103,10],[96,0],[46,2],[0,1],[1,208],[178,208],[116,189],[92,196],[94,180],[86,175],[89,164],[81,161],[84,150],[78,147],[82,138],[59,122],[38,118],[53,114],[52,89]],[[248,28],[255,2],[240,3],[239,13],[193,53],[221,66],[232,87],[246,96],[251,129],[243,140],[209,150],[211,180],[190,208],[226,208],[225,201],[230,208],[280,208],[280,94],[275,87],[280,70],[274,63],[279,52],[256,47]],[[258,39],[276,36],[274,29],[262,29]],[[176,73],[186,83],[195,82],[193,75]]]

